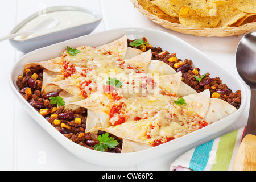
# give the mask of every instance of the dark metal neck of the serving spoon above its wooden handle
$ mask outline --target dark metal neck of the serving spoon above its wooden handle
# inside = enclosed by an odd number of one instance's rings
[[[243,136],[246,136],[247,134],[256,135],[256,88],[251,88],[249,117],[245,134]]]

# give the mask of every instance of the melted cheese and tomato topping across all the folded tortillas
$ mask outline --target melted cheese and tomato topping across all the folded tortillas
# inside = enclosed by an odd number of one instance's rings
[[[118,52],[89,46],[78,49],[81,52],[76,56],[63,54],[63,72],[55,79],[71,79],[67,86],[79,88],[80,97],[88,98],[95,108],[108,114],[108,122],[120,131],[119,136],[156,146],[207,125],[195,111],[202,105],[193,101],[188,101],[189,105],[175,104],[175,93],[163,94],[172,88],[163,80],[161,88],[158,74],[126,63]],[[109,85],[109,78],[122,82],[122,86]],[[177,86],[175,80],[169,84]]]

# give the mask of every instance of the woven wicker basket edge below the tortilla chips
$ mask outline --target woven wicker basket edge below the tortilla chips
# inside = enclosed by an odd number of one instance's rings
[[[195,28],[195,27],[187,27],[183,26],[179,23],[171,23],[167,20],[163,20],[158,18],[157,16],[149,13],[148,11],[144,10],[137,0],[131,0],[134,7],[142,13],[147,18],[151,19],[156,24],[163,26],[164,28],[168,28],[170,30],[174,30],[176,32],[180,32],[183,34],[191,34],[195,36],[218,36],[218,37],[225,37],[225,36],[233,36],[233,35],[242,35],[247,34],[251,31],[256,30],[256,22],[254,23],[247,23],[239,27],[226,27],[226,28]]]

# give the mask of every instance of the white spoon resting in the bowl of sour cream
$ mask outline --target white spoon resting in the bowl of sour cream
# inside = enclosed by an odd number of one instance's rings
[[[6,40],[6,39],[15,38],[16,36],[28,35],[28,34],[32,34],[34,32],[47,30],[49,28],[55,27],[57,24],[59,24],[59,20],[58,19],[56,19],[56,18],[49,18],[49,19],[46,19],[43,22],[39,23],[37,26],[35,26],[31,30],[23,31],[23,32],[18,32],[18,33],[15,33],[15,34],[4,36],[3,38],[0,38],[0,42],[2,42],[3,40]]]

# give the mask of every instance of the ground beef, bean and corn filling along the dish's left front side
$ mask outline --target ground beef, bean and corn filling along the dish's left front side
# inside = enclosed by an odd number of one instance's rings
[[[32,75],[36,73],[36,85],[30,85],[29,81]],[[94,150],[94,146],[98,143],[98,135],[93,133],[85,133],[87,110],[80,107],[77,110],[64,110],[64,106],[57,107],[56,104],[51,104],[49,99],[41,91],[43,80],[43,69],[31,67],[24,71],[22,76],[19,76],[16,84],[20,89],[20,94],[40,113],[40,109],[47,109],[49,113],[43,115],[46,120],[61,134],[73,142],[80,144],[86,148]],[[35,84],[35,82],[34,82]],[[31,88],[33,87],[33,88]],[[57,117],[51,117],[57,115]],[[60,117],[62,115],[62,117]],[[75,119],[81,118],[81,123],[76,123]],[[55,120],[59,120],[56,123]],[[64,124],[64,125],[63,125]],[[115,137],[119,144],[115,148],[106,150],[106,152],[120,153],[122,148],[122,140]]]

